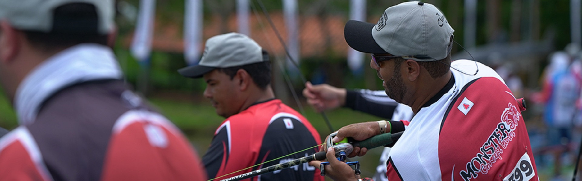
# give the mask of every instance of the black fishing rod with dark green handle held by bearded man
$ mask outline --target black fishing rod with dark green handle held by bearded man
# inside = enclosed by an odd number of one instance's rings
[[[328,148],[332,145],[331,140],[333,139],[333,136],[335,136],[335,135],[336,135],[336,133],[332,133],[331,135],[329,135],[329,137],[327,139],[328,140],[328,142],[327,142]],[[345,160],[345,158],[347,157],[346,155],[349,155],[350,153],[352,153],[353,147],[367,148],[368,150],[374,149],[375,147],[386,146],[386,145],[392,144],[393,142],[396,142],[396,140],[398,140],[401,135],[402,135],[402,132],[393,133],[393,134],[392,133],[384,133],[381,135],[372,136],[368,139],[361,140],[361,141],[347,139],[347,142],[340,142],[340,143],[335,144],[331,147],[333,147],[335,149],[335,154],[336,154],[336,157],[338,157],[338,160],[340,158],[343,158],[343,160]],[[350,147],[352,149],[350,149]],[[267,168],[262,168],[262,169],[258,169],[256,171],[243,173],[243,174],[233,176],[233,177],[228,178],[228,179],[222,179],[219,181],[243,180],[243,179],[252,178],[254,176],[262,175],[265,173],[280,171],[282,169],[286,169],[286,168],[289,168],[291,166],[304,164],[304,163],[314,161],[314,160],[325,160],[325,158],[326,158],[325,154],[326,154],[325,151],[320,151],[320,152],[315,153],[313,155],[308,155],[306,157],[297,158],[295,160],[284,162],[281,164],[271,165],[271,166],[268,166]],[[324,174],[325,174],[325,172],[322,172],[322,175],[324,175]]]

